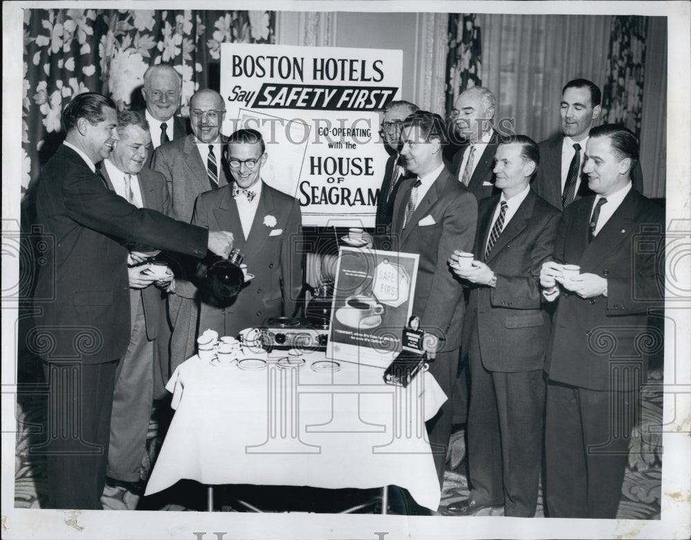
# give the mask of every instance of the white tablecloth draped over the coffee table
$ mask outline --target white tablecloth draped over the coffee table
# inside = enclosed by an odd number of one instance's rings
[[[377,488],[399,485],[432,510],[441,492],[424,421],[446,395],[430,374],[408,388],[384,370],[341,362],[339,372],[246,371],[193,356],[173,374],[176,414],[146,494],[180,479],[205,484]]]

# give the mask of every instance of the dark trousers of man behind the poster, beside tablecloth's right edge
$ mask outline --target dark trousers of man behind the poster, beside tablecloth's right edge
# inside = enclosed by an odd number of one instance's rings
[[[427,434],[432,447],[434,464],[437,469],[439,486],[444,484],[444,465],[446,465],[446,451],[451,438],[451,424],[453,416],[453,385],[455,384],[458,367],[458,349],[437,353],[437,358],[430,364],[430,374],[448,398],[439,408],[437,414],[426,423]]]

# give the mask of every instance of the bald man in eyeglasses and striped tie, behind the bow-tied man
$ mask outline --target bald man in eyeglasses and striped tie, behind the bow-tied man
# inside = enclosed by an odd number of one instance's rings
[[[200,193],[228,184],[221,160],[224,141],[220,126],[225,118],[223,97],[214,90],[199,90],[189,100],[189,106],[191,135],[160,146],[153,156],[153,168],[164,175],[168,184],[173,218],[188,223]],[[199,306],[195,299],[197,288],[191,278],[196,264],[196,260],[184,257],[173,264],[176,289],[168,298],[170,326],[162,328],[164,334],[170,334],[170,365],[168,373],[164,374],[166,378],[194,354]]]

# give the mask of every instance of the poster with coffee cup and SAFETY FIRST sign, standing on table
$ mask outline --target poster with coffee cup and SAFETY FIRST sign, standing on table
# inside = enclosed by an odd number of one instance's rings
[[[386,368],[413,311],[419,256],[341,247],[326,356]]]

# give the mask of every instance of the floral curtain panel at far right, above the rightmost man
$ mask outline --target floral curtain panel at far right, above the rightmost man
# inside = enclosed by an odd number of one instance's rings
[[[640,138],[647,17],[614,16],[611,28],[601,116]]]

